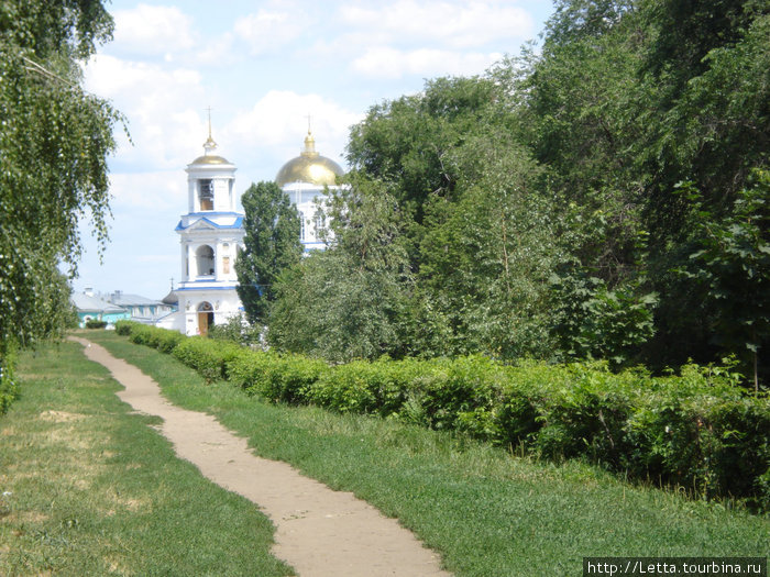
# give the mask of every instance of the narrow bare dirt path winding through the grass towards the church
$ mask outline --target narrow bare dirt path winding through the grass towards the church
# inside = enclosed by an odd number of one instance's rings
[[[300,577],[431,577],[450,574],[439,557],[395,519],[349,492],[332,491],[289,465],[255,456],[211,415],[187,411],[161,396],[133,365],[85,339],[86,356],[125,387],[118,396],[138,411],[161,417],[177,455],[216,484],[256,503],[276,526],[273,553]]]

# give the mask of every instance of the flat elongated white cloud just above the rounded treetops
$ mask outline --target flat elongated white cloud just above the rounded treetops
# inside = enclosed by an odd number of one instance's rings
[[[373,78],[398,79],[407,75],[470,76],[481,74],[502,58],[501,53],[459,53],[421,48],[399,51],[386,46],[367,49],[355,58],[351,67]]]

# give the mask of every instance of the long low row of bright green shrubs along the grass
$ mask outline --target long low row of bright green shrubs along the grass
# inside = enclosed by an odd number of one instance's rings
[[[122,326],[118,328],[121,332]],[[613,374],[602,363],[504,366],[482,356],[346,365],[254,352],[131,325],[131,339],[173,354],[208,380],[228,378],[274,402],[314,403],[462,431],[552,459],[585,458],[629,478],[770,508],[770,402],[729,370]],[[162,348],[163,349],[163,348]]]

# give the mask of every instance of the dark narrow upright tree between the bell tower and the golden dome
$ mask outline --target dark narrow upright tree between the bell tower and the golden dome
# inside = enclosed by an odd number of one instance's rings
[[[280,274],[302,255],[299,214],[275,182],[252,184],[242,197],[244,248],[235,262],[238,296],[251,323],[264,323]]]

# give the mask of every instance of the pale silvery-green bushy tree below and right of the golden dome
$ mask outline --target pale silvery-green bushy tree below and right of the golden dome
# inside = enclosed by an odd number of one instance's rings
[[[268,342],[332,362],[403,356],[411,289],[403,212],[382,184],[349,178],[331,198],[330,246],[275,286]]]

